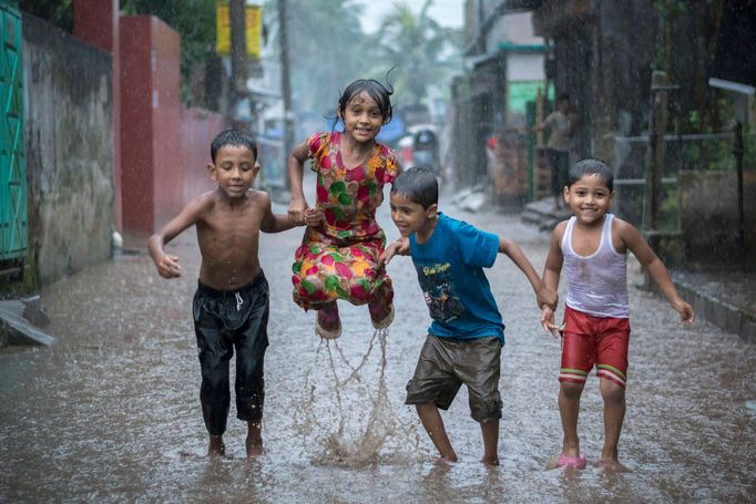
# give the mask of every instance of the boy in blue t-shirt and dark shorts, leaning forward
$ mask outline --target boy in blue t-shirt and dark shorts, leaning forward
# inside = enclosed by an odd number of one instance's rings
[[[555,306],[556,294],[542,288],[541,277],[512,240],[439,213],[438,183],[428,168],[408,169],[394,181],[391,219],[401,238],[386,248],[381,259],[412,256],[433,319],[405,403],[416,404],[441,459],[453,462],[457,454],[439,408],[447,410],[464,383],[471,416],[480,422],[483,434],[482,462],[498,465],[504,325],[483,268],[493,266],[498,254],[505,254],[528,277],[538,306]]]

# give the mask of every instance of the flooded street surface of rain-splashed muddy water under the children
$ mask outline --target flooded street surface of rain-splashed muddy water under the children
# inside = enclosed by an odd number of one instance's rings
[[[549,235],[519,215],[443,209],[513,238],[541,270]],[[386,205],[381,210],[394,238]],[[245,426],[232,402],[229,459],[204,457],[191,321],[200,257],[187,233],[173,246],[181,279],[161,279],[146,255],[125,255],[41,292],[55,343],[0,353],[0,502],[756,498],[756,412],[746,409],[756,399],[756,344],[707,322],[682,328],[664,300],[635,287],[643,279],[632,261],[620,444],[631,472],[546,470],[561,445],[559,343],[541,331],[527,280],[501,256],[488,274],[507,323],[501,466],[488,469],[478,462],[480,429],[469,418],[466,391],[443,416],[456,464],[436,462],[413,409],[402,403],[429,323],[410,260],[389,266],[397,317],[386,339],[374,333],[366,307],[341,305],[344,335],[326,346],[314,333],[315,315],[292,301],[290,263],[300,237],[294,229],[262,238],[272,296],[264,455],[244,460]],[[601,411],[592,377],[579,430],[589,461],[601,451]]]

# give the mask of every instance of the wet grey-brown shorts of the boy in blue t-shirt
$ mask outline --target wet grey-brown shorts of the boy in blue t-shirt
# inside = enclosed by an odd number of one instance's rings
[[[501,342],[496,336],[461,340],[428,335],[405,404],[433,403],[448,410],[464,383],[473,420],[501,419],[500,372]]]

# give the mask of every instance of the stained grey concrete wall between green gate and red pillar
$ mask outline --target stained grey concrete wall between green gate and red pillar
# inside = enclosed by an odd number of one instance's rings
[[[43,284],[111,256],[111,58],[23,16],[29,246]]]

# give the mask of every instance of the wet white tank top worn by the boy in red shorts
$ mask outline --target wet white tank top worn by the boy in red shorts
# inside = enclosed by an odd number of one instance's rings
[[[568,277],[566,305],[594,317],[630,317],[627,305],[627,254],[620,254],[612,244],[614,215],[606,214],[601,241],[590,256],[579,256],[572,249],[575,217],[568,222],[562,237],[562,256]]]

